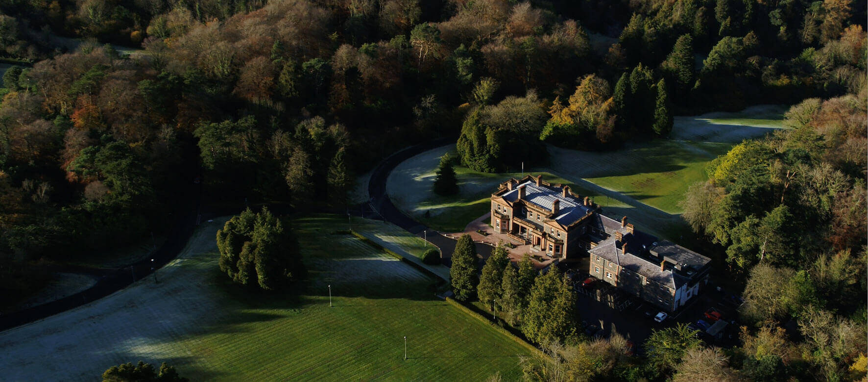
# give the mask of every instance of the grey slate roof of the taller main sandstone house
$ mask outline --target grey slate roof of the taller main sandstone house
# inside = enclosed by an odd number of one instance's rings
[[[562,226],[569,226],[570,224],[575,223],[575,221],[582,219],[585,215],[593,212],[590,207],[583,206],[582,201],[572,196],[564,197],[562,187],[545,185],[537,186],[536,181],[525,181],[517,185],[506,194],[503,194],[503,199],[510,202],[517,201],[518,188],[521,186],[524,186],[524,201],[533,203],[537,207],[542,207],[551,211],[552,203],[554,201],[559,201],[558,214],[554,216],[554,219]]]

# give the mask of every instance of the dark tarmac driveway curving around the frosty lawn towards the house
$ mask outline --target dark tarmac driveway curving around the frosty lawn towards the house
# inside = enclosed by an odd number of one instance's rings
[[[455,251],[456,240],[445,237],[437,233],[437,230],[426,227],[424,224],[413,220],[407,216],[398,207],[392,204],[389,194],[386,193],[386,181],[389,179],[391,170],[396,168],[402,161],[410,159],[414,155],[438,148],[446,144],[454,142],[454,138],[438,138],[431,142],[425,142],[409,148],[404,148],[381,161],[371,173],[371,181],[368,182],[368,194],[371,195],[371,201],[368,208],[373,207],[375,212],[385,221],[389,221],[398,227],[402,227],[411,234],[417,236],[426,236],[428,241],[431,241],[443,252],[441,256],[444,259],[446,266],[450,265],[448,259],[452,257],[452,252]],[[426,234],[427,233],[427,234]],[[488,259],[491,255],[491,247],[482,243],[475,243],[477,254],[480,254],[483,259]]]

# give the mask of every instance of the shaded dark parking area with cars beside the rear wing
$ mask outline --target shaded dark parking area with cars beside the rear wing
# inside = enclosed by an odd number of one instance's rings
[[[568,270],[567,274],[576,291],[582,331],[589,336],[608,337],[611,333],[620,333],[636,345],[637,352],[642,352],[641,345],[653,330],[683,323],[699,330],[700,338],[709,345],[730,347],[738,342],[739,324],[735,319],[738,319],[741,301],[725,291],[719,292],[709,285],[689,305],[669,314],[662,322],[656,322],[654,316],[661,312],[660,308],[628,296],[602,281],[583,286],[589,274],[582,272],[582,269],[587,267],[582,268],[580,265]],[[711,318],[705,314],[709,308],[717,312],[710,313]],[[697,324],[700,320],[702,322]],[[717,321],[725,323],[714,326]],[[711,329],[710,332],[716,333],[716,336],[709,334],[707,329]]]

